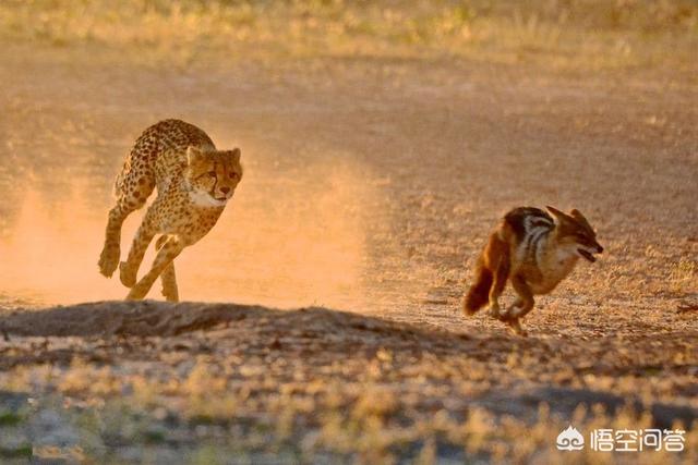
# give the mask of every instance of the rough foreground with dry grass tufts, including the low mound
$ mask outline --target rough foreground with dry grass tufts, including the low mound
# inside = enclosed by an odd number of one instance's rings
[[[25,406],[9,409],[12,421],[0,427],[14,445],[5,438],[0,446],[21,452],[33,444],[35,455],[98,462],[179,451],[178,463],[624,463],[588,448],[561,453],[553,444],[569,424],[588,436],[595,428],[679,428],[682,417],[698,415],[686,370],[695,351],[678,362],[666,357],[695,343],[690,334],[657,339],[643,357],[624,357],[640,339],[558,344],[430,332],[323,309],[134,308],[98,304],[4,320],[12,339],[0,395],[4,405],[14,395]],[[147,316],[151,329],[124,320],[119,339],[95,339],[89,334],[101,330],[72,323],[80,315],[106,322],[124,313],[130,320]],[[196,321],[209,327],[134,336]],[[65,331],[84,338],[39,343],[14,335]],[[559,388],[550,390],[551,382]],[[27,396],[35,400],[26,404]],[[698,430],[685,440],[682,454],[628,461],[695,463]]]

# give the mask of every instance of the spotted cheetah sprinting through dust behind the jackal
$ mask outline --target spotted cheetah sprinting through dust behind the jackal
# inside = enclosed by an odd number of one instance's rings
[[[208,135],[193,124],[165,120],[136,139],[115,183],[117,205],[109,210],[99,271],[110,278],[117,267],[127,299],[143,299],[160,277],[163,295],[179,301],[173,260],[216,224],[242,179],[240,149],[217,150]],[[119,262],[121,225],[142,208],[157,186],[135,233],[125,261]],[[151,270],[136,280],[143,256],[155,235],[157,255]]]

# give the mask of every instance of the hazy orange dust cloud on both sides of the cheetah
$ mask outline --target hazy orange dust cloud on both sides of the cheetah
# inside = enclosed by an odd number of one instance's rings
[[[265,172],[273,168],[248,167],[212,233],[178,258],[181,298],[361,306],[363,223],[375,195],[364,174],[346,162],[304,167],[290,179]],[[107,280],[96,266],[109,206],[95,211],[84,201],[86,191],[77,183],[58,205],[47,206],[48,193],[27,189],[20,216],[0,242],[3,292],[37,304],[123,298],[118,272]],[[143,211],[124,223],[122,259]],[[153,256],[151,247],[140,276]],[[159,291],[158,282],[148,297],[163,299]]]

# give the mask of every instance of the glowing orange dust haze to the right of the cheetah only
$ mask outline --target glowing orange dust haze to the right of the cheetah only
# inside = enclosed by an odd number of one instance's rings
[[[363,304],[371,187],[347,163],[306,168],[292,179],[245,171],[216,228],[179,260],[184,298],[281,307]]]

